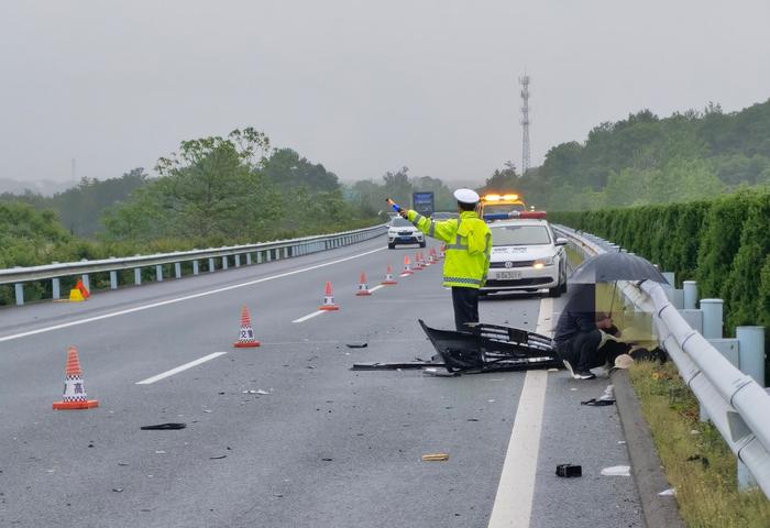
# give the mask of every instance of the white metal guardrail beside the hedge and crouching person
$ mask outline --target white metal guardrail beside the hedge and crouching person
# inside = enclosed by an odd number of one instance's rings
[[[592,234],[562,226],[554,229],[584,255],[619,250]],[[693,330],[660,284],[622,282],[618,286],[636,307],[652,314],[661,346],[738,461],[770,497],[770,394]]]

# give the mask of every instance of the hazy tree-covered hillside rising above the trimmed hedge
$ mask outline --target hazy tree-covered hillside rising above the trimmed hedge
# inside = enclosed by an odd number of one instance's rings
[[[525,175],[509,165],[501,183],[549,210],[585,210],[713,198],[770,185],[770,99],[726,113],[659,118],[649,110],[595,127],[585,142],[561,143]]]

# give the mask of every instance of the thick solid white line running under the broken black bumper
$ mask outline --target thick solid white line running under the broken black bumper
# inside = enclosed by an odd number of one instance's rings
[[[546,297],[540,301],[538,333],[551,333],[552,314],[553,299]],[[488,528],[529,527],[547,386],[547,371],[527,371]]]

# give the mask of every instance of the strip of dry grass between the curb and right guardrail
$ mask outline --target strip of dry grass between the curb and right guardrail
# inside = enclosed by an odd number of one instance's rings
[[[686,526],[770,527],[770,501],[759,490],[738,492],[736,458],[714,426],[698,421],[676,366],[637,363],[630,377]]]

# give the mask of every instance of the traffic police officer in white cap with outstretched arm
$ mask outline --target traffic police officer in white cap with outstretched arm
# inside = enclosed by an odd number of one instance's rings
[[[443,285],[452,288],[454,326],[468,331],[466,322],[479,322],[479,288],[486,282],[492,251],[490,228],[476,213],[479,194],[471,189],[454,191],[460,218],[437,222],[417,211],[402,209],[400,216],[428,237],[447,245]]]

